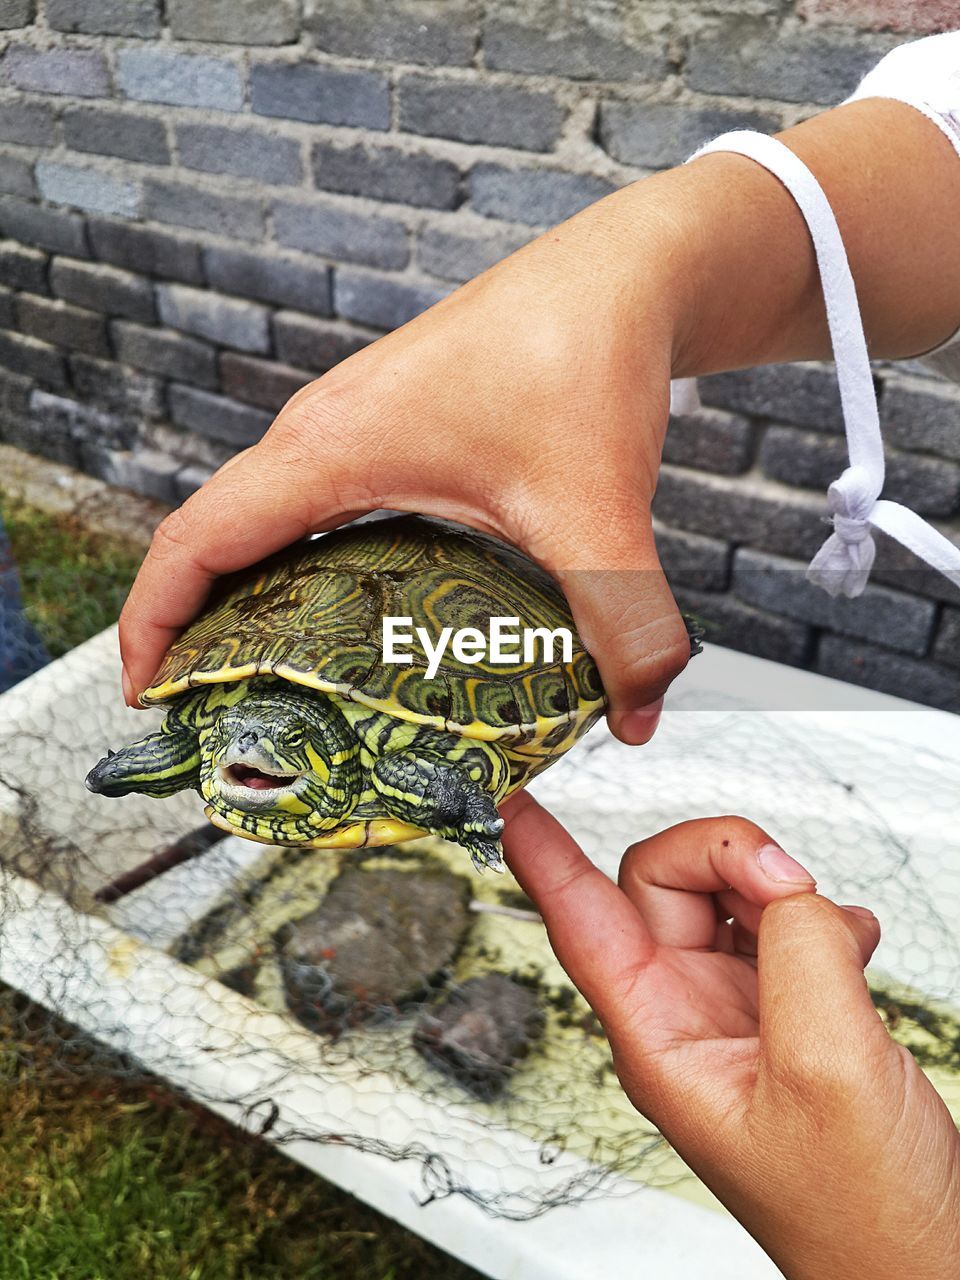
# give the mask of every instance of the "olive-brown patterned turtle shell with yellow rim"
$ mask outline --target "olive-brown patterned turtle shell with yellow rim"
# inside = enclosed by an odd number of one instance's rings
[[[548,662],[538,644],[529,663],[463,663],[448,645],[428,680],[416,643],[403,649],[411,664],[384,662],[387,616],[412,618],[434,644],[443,627],[488,635],[492,617],[567,627],[572,660]],[[604,705],[596,666],[553,579],[494,538],[422,516],[351,525],[227,579],[141,701],[266,675],[466,737],[548,750],[552,742],[563,750]]]

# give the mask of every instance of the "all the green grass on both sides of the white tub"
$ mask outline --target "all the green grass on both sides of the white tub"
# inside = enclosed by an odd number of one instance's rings
[[[52,655],[116,620],[138,553],[3,493],[0,515]],[[3,988],[0,1133],[0,1280],[477,1277]]]

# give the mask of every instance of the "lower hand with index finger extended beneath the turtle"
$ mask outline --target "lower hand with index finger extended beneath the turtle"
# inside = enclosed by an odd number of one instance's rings
[[[879,925],[741,818],[634,845],[613,884],[532,797],[507,860],[623,1088],[788,1280],[960,1272],[960,1137],[873,1009]]]

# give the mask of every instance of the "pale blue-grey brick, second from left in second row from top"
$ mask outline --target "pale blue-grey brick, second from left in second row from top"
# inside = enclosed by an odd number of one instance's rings
[[[243,106],[238,68],[201,54],[122,49],[116,55],[116,83],[138,102],[209,106],[218,111],[239,111]]]

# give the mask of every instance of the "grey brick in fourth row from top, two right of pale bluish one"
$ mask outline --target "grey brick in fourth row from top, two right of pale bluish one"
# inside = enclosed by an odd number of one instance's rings
[[[280,244],[308,253],[399,269],[410,261],[407,228],[389,218],[372,218],[316,201],[274,205],[274,234]]]

